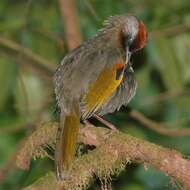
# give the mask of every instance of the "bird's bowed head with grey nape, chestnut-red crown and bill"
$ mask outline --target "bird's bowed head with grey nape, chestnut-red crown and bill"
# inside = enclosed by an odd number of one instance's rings
[[[132,53],[142,49],[147,43],[146,27],[133,15],[111,16],[106,25],[107,31],[115,33],[118,46],[125,52],[126,62]]]

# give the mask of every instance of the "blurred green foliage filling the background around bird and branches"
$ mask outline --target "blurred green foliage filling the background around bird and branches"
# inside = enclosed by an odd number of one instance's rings
[[[132,13],[142,19],[150,33],[145,50],[133,56],[138,80],[137,95],[130,107],[168,128],[189,127],[190,123],[190,26],[189,0],[77,0],[84,39],[92,37],[110,15]],[[164,29],[169,30],[164,30]],[[189,27],[190,28],[190,27]],[[8,38],[58,64],[68,52],[59,4],[52,0],[1,0],[0,37]],[[27,64],[23,52],[13,54],[0,41],[0,165],[3,168],[18,142],[35,123],[56,118],[52,81]],[[168,95],[169,94],[169,95]],[[190,154],[188,137],[166,137],[143,128],[126,112],[107,116],[124,132]],[[14,167],[14,164],[13,166]],[[48,170],[53,161],[38,160],[30,171],[12,169],[0,189],[17,190],[31,184]],[[90,189],[98,189],[97,181]],[[178,189],[154,168],[131,165],[118,178],[118,190]]]

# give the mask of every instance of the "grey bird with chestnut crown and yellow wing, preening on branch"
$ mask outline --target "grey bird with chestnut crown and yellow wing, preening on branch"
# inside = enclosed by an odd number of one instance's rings
[[[113,113],[135,95],[130,57],[147,39],[146,27],[136,16],[110,16],[94,37],[61,61],[53,79],[60,110],[54,156],[58,180],[69,177],[80,122]]]

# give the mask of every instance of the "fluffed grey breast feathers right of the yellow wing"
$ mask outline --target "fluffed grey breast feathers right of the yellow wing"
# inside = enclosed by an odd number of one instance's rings
[[[128,68],[124,72],[123,81],[118,86],[114,94],[101,107],[98,114],[105,115],[119,110],[122,105],[127,105],[136,93],[137,82],[134,78],[132,68]]]

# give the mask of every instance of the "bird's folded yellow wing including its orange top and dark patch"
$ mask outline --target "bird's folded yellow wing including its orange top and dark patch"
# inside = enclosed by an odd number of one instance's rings
[[[105,68],[90,86],[80,102],[83,120],[91,117],[107,102],[123,80],[125,62],[118,60],[111,68]]]

